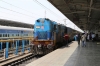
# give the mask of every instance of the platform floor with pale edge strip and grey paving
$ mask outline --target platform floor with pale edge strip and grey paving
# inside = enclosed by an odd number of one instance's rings
[[[87,47],[82,47],[73,41],[26,66],[100,66],[100,45],[87,42]]]

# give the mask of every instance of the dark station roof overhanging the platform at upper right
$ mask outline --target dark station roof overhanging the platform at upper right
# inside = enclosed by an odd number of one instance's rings
[[[48,0],[82,30],[100,30],[100,0]]]

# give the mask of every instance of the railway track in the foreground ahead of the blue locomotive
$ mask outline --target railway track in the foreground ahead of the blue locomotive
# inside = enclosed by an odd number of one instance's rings
[[[36,59],[38,59],[40,57],[42,57],[42,56],[30,54],[23,58],[16,59],[12,62],[8,62],[8,63],[4,62],[4,64],[2,64],[1,66],[25,66],[26,64],[28,64],[32,61],[35,61]]]

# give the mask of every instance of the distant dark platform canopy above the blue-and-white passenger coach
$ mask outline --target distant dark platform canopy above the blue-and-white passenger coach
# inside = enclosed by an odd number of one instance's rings
[[[24,28],[33,28],[32,24],[26,24],[26,23],[22,23],[22,22],[5,20],[5,19],[0,19],[0,25],[14,26],[14,27],[24,27]]]

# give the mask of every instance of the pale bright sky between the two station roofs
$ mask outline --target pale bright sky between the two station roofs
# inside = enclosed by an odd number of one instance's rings
[[[34,24],[39,18],[49,18],[82,32],[47,0],[0,0],[0,19]]]

